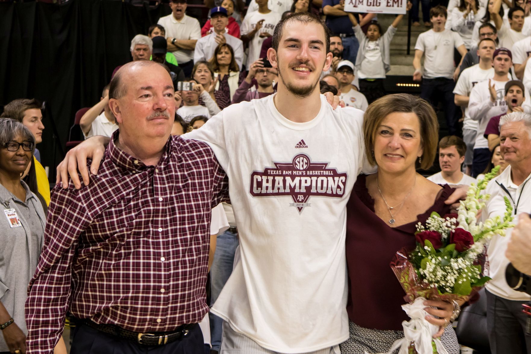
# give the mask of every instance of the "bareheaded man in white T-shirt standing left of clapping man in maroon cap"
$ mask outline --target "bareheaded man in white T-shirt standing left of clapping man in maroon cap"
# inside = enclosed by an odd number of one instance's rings
[[[463,140],[466,144],[466,154],[464,166],[467,173],[472,173],[472,159],[474,157],[474,144],[477,135],[477,121],[470,119],[468,112],[468,102],[470,92],[476,83],[494,77],[494,68],[492,68],[492,54],[496,50],[496,43],[491,38],[484,38],[479,41],[477,55],[479,63],[470,68],[463,70],[457,80],[456,87],[453,89],[455,94],[453,100],[456,105],[465,107],[465,120],[463,122]]]

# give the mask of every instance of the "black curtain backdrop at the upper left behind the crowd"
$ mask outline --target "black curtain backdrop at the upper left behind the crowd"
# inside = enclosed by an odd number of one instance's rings
[[[116,66],[131,61],[131,39],[147,34],[170,12],[168,4],[150,9],[115,0],[0,3],[0,105],[15,98],[46,101],[50,114],[37,148],[50,179],[55,176],[51,120],[57,146],[64,149],[75,112],[95,105]],[[63,156],[55,150],[58,164]]]

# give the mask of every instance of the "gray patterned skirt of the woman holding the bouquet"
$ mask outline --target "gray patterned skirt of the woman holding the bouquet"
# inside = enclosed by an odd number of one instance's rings
[[[387,353],[397,339],[404,338],[402,331],[372,330],[360,327],[352,321],[349,321],[348,326],[350,336],[345,342],[339,344],[341,354],[364,354],[365,351],[367,353]],[[460,347],[456,332],[451,326],[444,330],[440,339],[449,354],[459,354]],[[393,354],[397,353],[398,349],[393,352]]]

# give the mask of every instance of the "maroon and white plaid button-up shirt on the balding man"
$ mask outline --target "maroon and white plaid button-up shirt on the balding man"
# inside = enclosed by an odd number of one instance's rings
[[[111,141],[89,186],[54,188],[25,306],[28,353],[53,352],[67,310],[134,332],[201,321],[210,210],[227,199],[204,142],[170,138],[146,166]]]

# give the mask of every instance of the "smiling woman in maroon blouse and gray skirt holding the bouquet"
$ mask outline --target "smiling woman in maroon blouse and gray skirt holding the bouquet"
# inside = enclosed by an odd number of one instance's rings
[[[367,158],[378,172],[358,176],[347,205],[350,338],[341,344],[346,354],[387,352],[404,337],[405,292],[389,264],[400,249],[415,247],[417,223],[432,212],[450,212],[444,201],[453,191],[416,172],[432,165],[439,141],[435,112],[425,100],[407,94],[379,98],[367,108],[363,127]],[[446,327],[454,306],[438,300],[424,305],[426,320],[440,326],[435,337],[442,335],[447,351],[458,354],[456,334]]]

